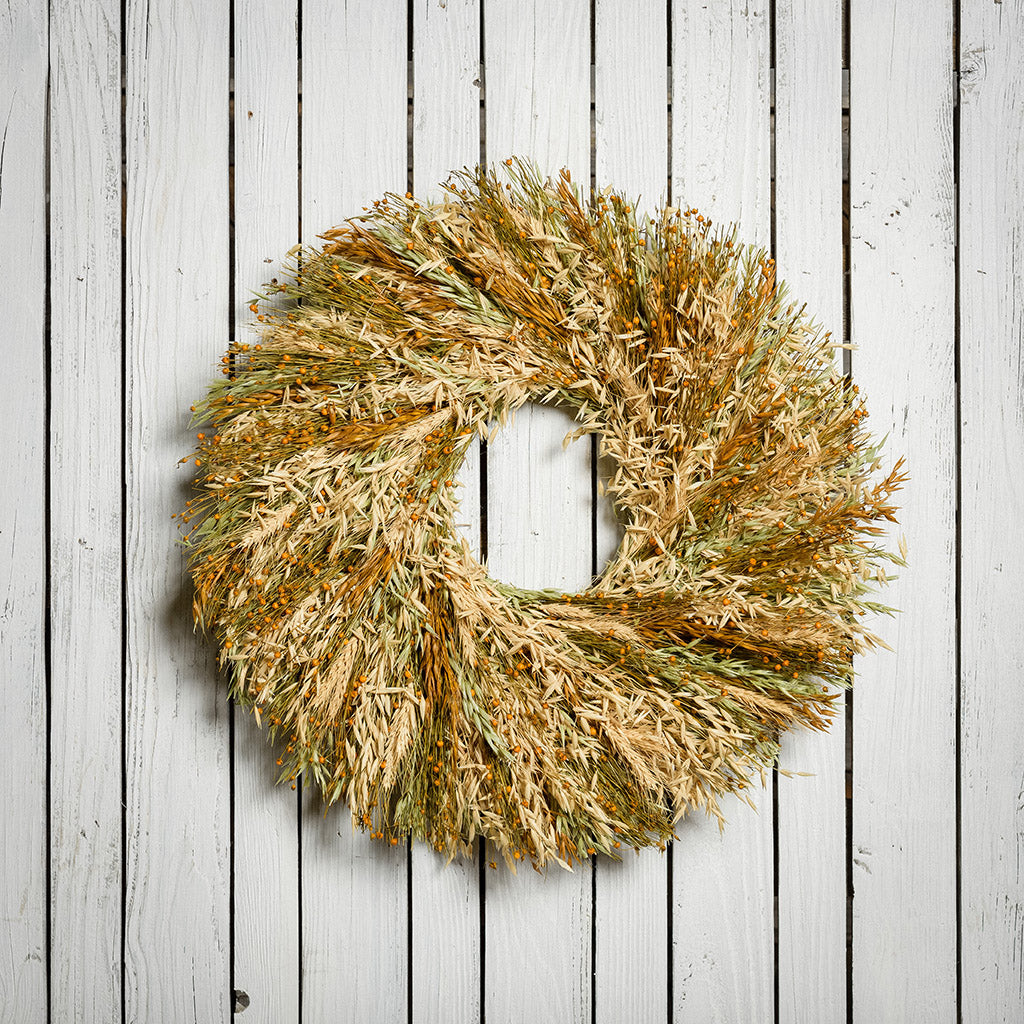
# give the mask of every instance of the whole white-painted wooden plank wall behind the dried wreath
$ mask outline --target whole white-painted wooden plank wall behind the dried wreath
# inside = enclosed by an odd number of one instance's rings
[[[11,0],[0,15],[0,1022],[1024,1020],[1024,0]],[[911,479],[846,715],[755,812],[518,877],[383,849],[224,698],[171,513],[296,242],[517,154],[736,221]],[[527,408],[503,579],[617,539]]]

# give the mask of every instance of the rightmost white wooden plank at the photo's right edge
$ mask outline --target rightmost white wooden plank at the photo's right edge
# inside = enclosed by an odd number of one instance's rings
[[[961,6],[961,1012],[1024,1020],[1024,6]],[[911,553],[912,553],[911,546]]]

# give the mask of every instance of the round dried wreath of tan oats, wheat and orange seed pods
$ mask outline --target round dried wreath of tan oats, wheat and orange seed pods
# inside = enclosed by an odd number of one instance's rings
[[[281,779],[397,844],[570,866],[663,845],[825,728],[885,581],[901,462],[773,261],[521,161],[387,195],[293,253],[194,407],[195,618]],[[487,574],[467,450],[527,401],[615,464],[580,593]]]

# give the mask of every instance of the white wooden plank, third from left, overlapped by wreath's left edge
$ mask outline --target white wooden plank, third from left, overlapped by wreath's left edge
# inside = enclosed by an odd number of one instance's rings
[[[193,632],[176,463],[227,338],[228,4],[127,8],[130,1020],[227,1021],[228,706]]]

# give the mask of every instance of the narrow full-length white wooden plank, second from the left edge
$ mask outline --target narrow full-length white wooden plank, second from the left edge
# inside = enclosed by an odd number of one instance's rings
[[[121,10],[51,5],[51,994],[121,1020]]]

